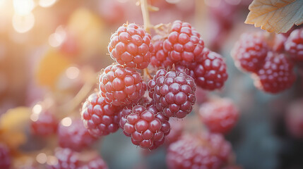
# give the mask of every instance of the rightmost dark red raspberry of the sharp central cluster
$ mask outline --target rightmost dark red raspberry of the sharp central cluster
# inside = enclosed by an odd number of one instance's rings
[[[189,75],[194,77],[197,86],[203,89],[220,89],[228,77],[222,56],[206,48],[203,49],[201,61],[190,68]]]

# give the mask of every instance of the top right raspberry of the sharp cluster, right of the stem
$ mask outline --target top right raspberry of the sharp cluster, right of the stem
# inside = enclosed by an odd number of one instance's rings
[[[189,23],[175,20],[167,39],[163,43],[163,49],[174,63],[186,61],[192,63],[198,61],[198,56],[204,48],[200,34]]]

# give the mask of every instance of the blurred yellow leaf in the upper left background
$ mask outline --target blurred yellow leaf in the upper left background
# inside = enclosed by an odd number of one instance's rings
[[[53,89],[57,85],[59,76],[69,65],[71,65],[71,61],[64,54],[49,49],[35,71],[35,78],[38,84]]]

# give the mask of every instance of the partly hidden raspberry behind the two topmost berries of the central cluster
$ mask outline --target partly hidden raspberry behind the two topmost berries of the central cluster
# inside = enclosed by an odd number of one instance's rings
[[[150,64],[155,68],[172,68],[172,60],[163,49],[164,38],[160,35],[155,35],[152,39],[153,52],[150,58]]]

